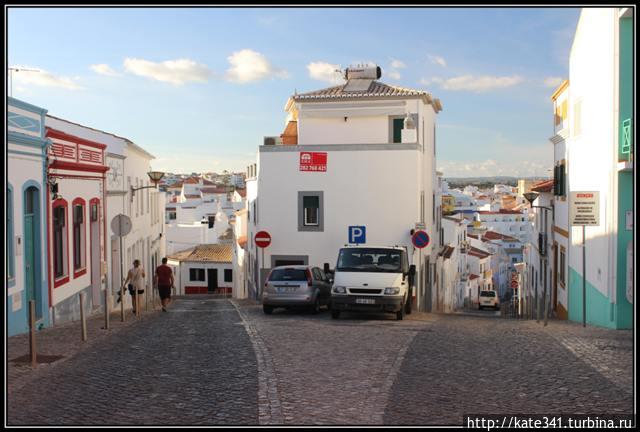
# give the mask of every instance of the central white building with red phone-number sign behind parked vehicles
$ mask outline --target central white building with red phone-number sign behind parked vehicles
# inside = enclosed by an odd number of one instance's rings
[[[418,273],[416,306],[424,309],[438,250],[433,244],[414,249],[411,230],[422,222],[438,243],[440,101],[425,91],[375,81],[376,68],[347,73],[344,85],[289,98],[282,141],[260,146],[256,179],[249,174],[245,180],[250,295],[259,297],[274,266],[329,263],[333,268],[341,246],[364,242],[407,247]],[[350,238],[350,227],[356,226],[364,227],[364,235]],[[271,235],[264,251],[255,245],[257,231]]]

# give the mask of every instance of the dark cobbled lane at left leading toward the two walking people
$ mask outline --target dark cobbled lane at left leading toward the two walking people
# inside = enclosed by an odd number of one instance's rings
[[[38,377],[9,424],[257,424],[249,336],[226,300],[180,299]]]

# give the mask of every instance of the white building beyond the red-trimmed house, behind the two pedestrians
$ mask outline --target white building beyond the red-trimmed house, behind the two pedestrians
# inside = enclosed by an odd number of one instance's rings
[[[68,134],[91,140],[105,146],[107,165],[104,184],[106,194],[105,205],[105,243],[108,248],[104,257],[103,275],[106,286],[110,290],[111,306],[116,305],[118,291],[133,266],[133,260],[139,259],[146,270],[146,292],[144,305],[151,300],[146,293],[151,292],[152,275],[155,267],[165,256],[164,207],[165,194],[155,188],[145,188],[132,194],[131,187],[152,186],[147,172],[151,171],[154,156],[123,138],[68,120],[47,116],[47,125]],[[61,193],[64,191],[61,186]],[[111,228],[111,222],[118,214],[131,218],[132,229],[122,238],[122,254],[120,237]],[[122,260],[121,260],[122,255]],[[130,296],[125,296],[125,306],[131,306]],[[141,303],[142,304],[142,303]]]

